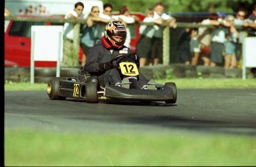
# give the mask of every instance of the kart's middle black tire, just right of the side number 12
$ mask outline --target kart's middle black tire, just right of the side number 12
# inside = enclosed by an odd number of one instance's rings
[[[96,82],[88,82],[85,84],[85,95],[87,103],[98,102],[97,86],[98,83]]]

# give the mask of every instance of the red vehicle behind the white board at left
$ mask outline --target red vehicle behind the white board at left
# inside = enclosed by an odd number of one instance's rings
[[[49,17],[49,16],[25,16]],[[52,16],[51,18],[62,18]],[[4,23],[4,67],[30,67],[31,26],[62,25],[38,21],[5,21]],[[79,50],[79,60],[82,59],[82,48]],[[55,61],[35,61],[35,67],[56,67]]]

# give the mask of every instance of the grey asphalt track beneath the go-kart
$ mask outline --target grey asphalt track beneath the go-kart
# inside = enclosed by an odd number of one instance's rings
[[[4,92],[4,128],[63,132],[189,132],[256,135],[255,89],[177,89],[177,103],[50,100],[45,91]]]

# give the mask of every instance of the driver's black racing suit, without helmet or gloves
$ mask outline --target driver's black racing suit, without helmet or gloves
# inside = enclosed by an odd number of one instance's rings
[[[100,86],[115,85],[116,83],[122,83],[122,78],[116,68],[105,70],[99,68],[99,64],[110,62],[117,55],[131,54],[131,49],[122,46],[119,49],[113,47],[106,47],[103,42],[105,38],[102,37],[102,41],[88,50],[86,55],[85,69],[91,74],[96,75],[99,78]],[[107,49],[108,48],[108,49]],[[144,75],[139,74],[138,76],[139,86],[142,87],[147,85],[148,81]]]

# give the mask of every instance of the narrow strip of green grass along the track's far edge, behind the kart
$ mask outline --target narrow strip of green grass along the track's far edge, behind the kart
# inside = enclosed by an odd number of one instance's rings
[[[157,80],[157,83],[174,82],[177,89],[255,89],[256,79],[240,78],[177,78],[172,80]],[[47,83],[4,83],[5,91],[14,90],[46,90]]]

